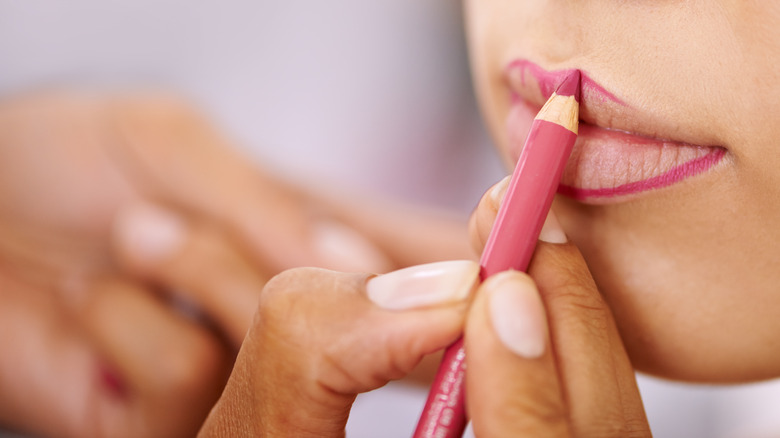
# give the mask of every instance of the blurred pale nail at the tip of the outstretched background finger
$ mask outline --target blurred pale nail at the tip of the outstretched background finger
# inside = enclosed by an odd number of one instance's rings
[[[386,272],[392,264],[365,237],[334,221],[320,221],[312,227],[312,245],[323,268],[346,272]]]

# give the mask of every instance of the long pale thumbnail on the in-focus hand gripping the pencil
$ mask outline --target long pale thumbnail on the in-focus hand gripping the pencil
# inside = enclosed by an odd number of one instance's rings
[[[455,260],[412,266],[368,281],[368,298],[379,307],[413,309],[456,302],[469,296],[479,279],[479,264]]]

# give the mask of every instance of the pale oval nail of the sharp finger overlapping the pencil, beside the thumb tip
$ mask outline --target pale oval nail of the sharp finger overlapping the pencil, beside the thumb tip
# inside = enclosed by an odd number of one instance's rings
[[[547,343],[547,318],[533,281],[515,271],[497,274],[485,283],[493,329],[504,346],[526,359],[536,359]]]

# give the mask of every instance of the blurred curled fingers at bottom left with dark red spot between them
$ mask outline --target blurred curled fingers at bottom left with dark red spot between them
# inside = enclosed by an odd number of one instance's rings
[[[231,349],[156,291],[93,278],[78,308],[0,275],[0,424],[51,437],[192,436]]]

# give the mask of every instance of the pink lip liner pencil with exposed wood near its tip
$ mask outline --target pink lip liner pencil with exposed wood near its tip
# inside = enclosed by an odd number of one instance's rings
[[[480,259],[482,280],[525,271],[577,139],[580,72],[564,78],[534,118]],[[463,338],[449,346],[414,438],[458,438],[466,428]]]

